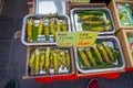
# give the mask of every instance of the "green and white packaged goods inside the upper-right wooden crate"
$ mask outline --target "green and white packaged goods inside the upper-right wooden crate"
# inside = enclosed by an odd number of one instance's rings
[[[133,11],[129,3],[116,3],[121,25],[133,26]]]

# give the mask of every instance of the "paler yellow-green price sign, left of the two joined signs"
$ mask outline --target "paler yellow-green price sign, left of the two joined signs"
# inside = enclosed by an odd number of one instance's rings
[[[76,33],[57,32],[57,44],[60,46],[75,46]]]

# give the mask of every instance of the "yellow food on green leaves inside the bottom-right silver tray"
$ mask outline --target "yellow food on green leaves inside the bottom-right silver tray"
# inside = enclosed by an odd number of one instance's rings
[[[92,47],[79,47],[79,63],[81,68],[106,68],[115,65],[119,51],[101,42]]]

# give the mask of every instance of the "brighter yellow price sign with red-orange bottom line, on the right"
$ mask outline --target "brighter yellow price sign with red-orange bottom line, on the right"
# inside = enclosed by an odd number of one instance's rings
[[[92,46],[95,43],[98,32],[78,32],[76,46]]]

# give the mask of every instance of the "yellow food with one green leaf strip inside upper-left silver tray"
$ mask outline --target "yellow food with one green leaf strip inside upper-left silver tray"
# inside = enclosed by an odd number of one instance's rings
[[[29,43],[55,42],[55,32],[69,31],[68,18],[57,13],[32,15],[25,21],[25,41]]]

